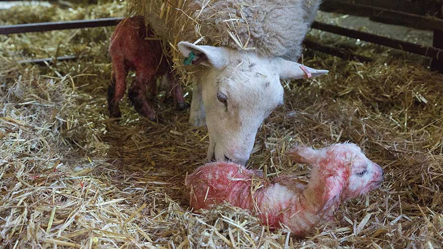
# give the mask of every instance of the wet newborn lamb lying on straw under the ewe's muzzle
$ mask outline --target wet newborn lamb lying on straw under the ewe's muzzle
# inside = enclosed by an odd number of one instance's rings
[[[322,149],[296,146],[289,156],[310,164],[313,171],[306,186],[290,176],[272,180],[262,172],[232,163],[201,166],[188,175],[190,206],[194,210],[228,202],[253,210],[263,224],[289,227],[297,237],[330,220],[343,201],[378,189],[383,170],[353,143]]]

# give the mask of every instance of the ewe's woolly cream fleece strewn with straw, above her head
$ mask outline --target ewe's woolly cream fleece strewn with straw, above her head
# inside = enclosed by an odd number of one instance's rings
[[[320,0],[128,0],[160,39],[225,46],[296,61]]]

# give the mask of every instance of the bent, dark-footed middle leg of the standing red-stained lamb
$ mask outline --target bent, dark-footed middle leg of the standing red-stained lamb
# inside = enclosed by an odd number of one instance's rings
[[[149,105],[146,98],[146,90],[152,89],[152,84],[155,85],[155,79],[153,74],[143,75],[137,72],[134,82],[129,88],[128,97],[131,104],[134,106],[135,111],[140,115],[149,118],[150,120],[156,119],[156,112]]]

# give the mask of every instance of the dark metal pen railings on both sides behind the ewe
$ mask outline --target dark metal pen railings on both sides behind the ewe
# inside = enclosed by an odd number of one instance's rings
[[[367,42],[372,42],[375,44],[380,44],[394,49],[399,49],[402,51],[407,51],[410,53],[423,55],[432,58],[432,68],[434,70],[439,70],[443,72],[443,19],[439,19],[433,16],[418,15],[414,13],[407,13],[393,9],[386,9],[378,6],[364,4],[366,0],[357,0],[363,3],[355,3],[347,0],[325,0],[322,3],[321,9],[330,12],[341,12],[349,13],[360,16],[369,16],[372,19],[381,18],[383,22],[395,23],[397,25],[405,25],[414,28],[421,29],[431,29],[434,30],[434,44],[433,46],[418,45],[410,42],[405,42],[402,40],[392,39],[368,32],[358,31],[350,28],[338,27],[330,24],[314,22],[312,28],[319,30],[332,32],[339,35],[344,35],[352,37],[355,39],[364,40]],[[386,1],[386,0],[384,0]],[[394,0],[387,0],[394,1]],[[402,1],[402,0],[400,0]],[[426,1],[426,0],[424,0]],[[443,11],[443,3],[439,0],[428,0],[429,4],[436,6],[435,9],[438,12],[437,15],[441,15]],[[439,9],[439,6],[441,9]],[[432,8],[429,6],[424,6],[428,11]],[[440,11],[440,12],[439,12]],[[388,17],[388,18],[387,18]],[[25,32],[43,32],[49,30],[62,30],[62,29],[74,29],[74,28],[95,28],[95,27],[106,27],[117,25],[122,18],[101,18],[96,20],[76,20],[76,21],[66,21],[66,22],[49,22],[49,23],[32,23],[32,24],[19,24],[19,25],[6,25],[0,26],[0,34],[14,34],[14,33],[25,33]],[[387,20],[387,21],[386,21]],[[333,55],[338,55],[341,57],[354,57],[363,61],[371,60],[371,58],[360,56],[360,55],[350,55],[348,53],[343,53],[333,47],[327,45],[321,45],[313,41],[307,41],[307,45],[314,47],[322,52],[330,53]],[[62,60],[75,59],[75,56],[64,56],[60,57]],[[54,58],[57,59],[57,58]],[[37,60],[24,60],[22,62],[31,63],[44,63],[42,60],[53,60],[51,58],[37,59]]]

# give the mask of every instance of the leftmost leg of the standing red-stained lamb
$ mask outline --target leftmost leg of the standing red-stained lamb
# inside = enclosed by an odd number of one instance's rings
[[[121,117],[119,102],[126,91],[127,67],[123,58],[112,60],[112,79],[108,87],[108,110],[111,117]]]

